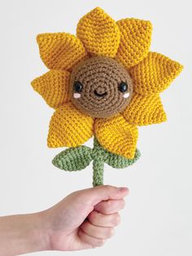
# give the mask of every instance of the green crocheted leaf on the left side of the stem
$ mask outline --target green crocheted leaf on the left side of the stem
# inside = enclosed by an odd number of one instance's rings
[[[93,160],[91,152],[92,149],[86,146],[68,148],[60,152],[52,163],[62,170],[83,170]]]

